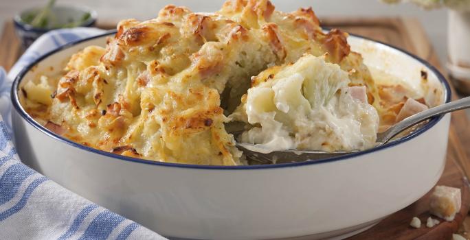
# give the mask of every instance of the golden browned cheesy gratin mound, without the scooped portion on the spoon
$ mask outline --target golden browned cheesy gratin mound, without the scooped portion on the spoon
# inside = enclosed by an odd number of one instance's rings
[[[311,8],[284,13],[269,1],[238,0],[208,14],[168,5],[156,19],[121,21],[105,49],[76,53],[46,120],[73,141],[115,154],[239,165],[225,116],[269,78],[268,71],[251,79],[268,67],[305,53],[325,56],[352,84],[366,85],[374,102],[372,77],[346,37],[337,29],[324,34]]]

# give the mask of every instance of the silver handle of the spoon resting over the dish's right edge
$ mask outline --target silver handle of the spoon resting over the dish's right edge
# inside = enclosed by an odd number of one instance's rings
[[[392,139],[392,137],[396,136],[396,134],[403,132],[403,130],[410,128],[416,125],[417,123],[421,123],[422,121],[425,121],[426,119],[429,119],[436,115],[443,115],[447,112],[454,112],[456,110],[465,108],[470,108],[470,97],[464,97],[456,101],[451,101],[447,104],[436,106],[434,108],[429,108],[428,110],[424,110],[423,112],[418,112],[415,115],[407,117],[399,123],[396,123],[385,132],[377,134],[377,142],[387,143],[388,141],[390,141],[390,139]]]

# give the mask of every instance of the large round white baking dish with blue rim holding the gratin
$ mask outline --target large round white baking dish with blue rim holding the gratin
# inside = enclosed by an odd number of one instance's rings
[[[64,139],[34,121],[21,87],[109,34],[72,43],[43,56],[12,87],[14,134],[24,163],[111,211],[159,232],[190,239],[341,239],[370,228],[434,187],[445,167],[450,115],[409,136],[363,152],[320,162],[258,166],[159,163],[118,156]],[[443,104],[450,90],[430,64],[383,43],[350,36],[365,63],[421,89],[427,103]],[[50,68],[53,66],[54,68]],[[434,90],[432,89],[434,88]]]

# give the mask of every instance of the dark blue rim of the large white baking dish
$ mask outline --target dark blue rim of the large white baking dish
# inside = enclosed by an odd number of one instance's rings
[[[120,159],[120,160],[126,160],[126,161],[131,161],[131,162],[136,162],[136,163],[145,163],[145,164],[148,164],[148,165],[157,165],[157,166],[161,166],[161,167],[179,167],[179,168],[188,168],[188,169],[215,169],[215,170],[273,169],[273,168],[283,168],[283,167],[300,167],[300,166],[304,166],[304,165],[314,165],[314,164],[320,164],[320,163],[331,163],[331,162],[337,161],[337,160],[351,159],[351,158],[355,158],[357,156],[370,154],[372,152],[377,152],[377,151],[382,150],[382,149],[387,149],[389,147],[393,147],[394,145],[405,143],[406,141],[410,141],[411,139],[414,139],[416,136],[418,136],[418,135],[422,134],[423,132],[426,132],[427,130],[432,128],[434,125],[436,125],[436,123],[438,123],[438,121],[440,121],[440,119],[443,118],[443,115],[440,115],[438,117],[434,117],[434,118],[430,119],[429,122],[426,125],[424,125],[422,128],[419,128],[418,130],[416,130],[412,134],[404,136],[403,138],[398,139],[396,141],[392,141],[392,142],[387,143],[385,145],[380,145],[378,147],[372,147],[370,149],[366,149],[366,150],[363,150],[363,151],[360,151],[360,152],[355,152],[355,153],[347,154],[347,155],[343,155],[343,156],[335,156],[335,157],[332,157],[332,158],[325,158],[325,159],[322,159],[322,160],[314,160],[314,161],[305,161],[305,162],[300,162],[300,163],[280,163],[280,164],[273,164],[273,165],[219,166],[219,165],[194,165],[194,164],[184,164],[184,163],[164,163],[164,162],[158,162],[158,161],[155,161],[155,160],[145,160],[145,159],[141,159],[141,158],[133,158],[133,157],[128,157],[128,156],[112,154],[111,152],[105,152],[105,151],[102,151],[100,149],[96,149],[96,148],[93,148],[93,147],[87,147],[85,145],[81,145],[80,143],[76,143],[76,142],[71,141],[69,139],[65,139],[63,136],[59,136],[59,135],[55,134],[54,132],[52,132],[52,131],[48,130],[47,128],[45,128],[43,125],[41,125],[38,122],[34,121],[34,119],[32,119],[32,117],[30,117],[30,115],[28,115],[27,112],[25,112],[25,110],[23,109],[23,107],[21,107],[21,104],[19,102],[19,95],[18,95],[18,93],[19,93],[19,83],[21,82],[21,80],[23,80],[23,77],[26,75],[26,73],[28,71],[30,71],[30,69],[32,69],[32,67],[34,67],[36,64],[38,64],[39,62],[41,62],[45,58],[51,56],[52,54],[57,53],[58,51],[61,51],[63,49],[67,49],[69,47],[72,47],[72,46],[77,45],[79,43],[83,43],[83,42],[88,41],[88,40],[101,38],[103,36],[109,36],[111,34],[115,34],[115,32],[116,32],[115,30],[112,30],[112,31],[106,32],[104,34],[100,34],[98,36],[91,36],[89,38],[84,38],[84,39],[77,40],[77,41],[72,42],[72,43],[68,43],[68,44],[63,45],[61,47],[58,47],[57,49],[49,51],[48,53],[45,53],[45,55],[41,56],[40,58],[38,58],[37,60],[35,60],[31,64],[27,65],[27,67],[24,67],[20,71],[20,73],[15,77],[14,82],[12,84],[12,89],[11,89],[12,104],[13,104],[14,108],[16,109],[16,111],[19,112],[19,115],[21,115],[21,117],[23,117],[23,119],[25,119],[28,123],[33,125],[34,128],[36,128],[37,130],[43,132],[47,136],[51,136],[53,139],[56,139],[58,141],[62,141],[63,143],[67,143],[68,145],[71,145],[73,147],[77,147],[78,149],[82,149],[82,150],[85,150],[85,151],[88,151],[88,152],[93,152],[95,154],[100,154],[100,155],[104,155],[104,156],[107,156],[107,157],[110,157],[110,158],[117,158],[117,159]],[[421,62],[425,67],[427,67],[427,69],[429,69],[430,71],[434,72],[434,74],[436,74],[436,77],[438,78],[439,82],[441,84],[443,84],[443,86],[445,88],[445,93],[444,93],[445,94],[445,102],[447,103],[447,102],[450,101],[450,99],[451,99],[451,89],[450,89],[449,83],[447,82],[445,77],[434,66],[432,66],[432,64],[429,64],[429,62],[423,60],[422,58],[419,58],[418,56],[416,56],[416,55],[414,55],[414,54],[412,54],[408,51],[393,47],[392,45],[388,45],[387,43],[382,43],[380,41],[372,40],[371,38],[366,38],[366,37],[355,35],[355,34],[350,34],[350,35],[355,36],[357,38],[363,38],[363,39],[366,39],[366,40],[370,40],[372,42],[379,43],[381,45],[385,45],[386,47],[390,47],[390,48],[392,48],[396,51],[401,51],[402,53],[407,54],[407,56],[410,56],[410,57],[414,58],[415,60],[418,60],[418,62]]]

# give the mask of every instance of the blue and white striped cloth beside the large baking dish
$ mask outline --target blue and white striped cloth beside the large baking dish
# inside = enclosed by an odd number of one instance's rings
[[[8,77],[0,67],[0,239],[165,239],[23,165],[12,144],[11,80],[44,53],[101,33],[93,28],[49,32],[27,49]]]

